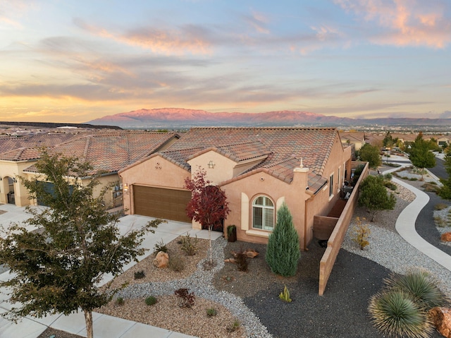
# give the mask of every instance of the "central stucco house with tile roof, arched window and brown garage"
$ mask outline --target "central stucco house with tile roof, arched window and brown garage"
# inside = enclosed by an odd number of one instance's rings
[[[305,249],[314,216],[328,215],[350,179],[351,148],[335,128],[192,128],[168,150],[119,171],[124,208],[191,222],[185,179],[201,167],[228,198],[224,229],[235,224],[239,240],[266,243],[285,202]]]

